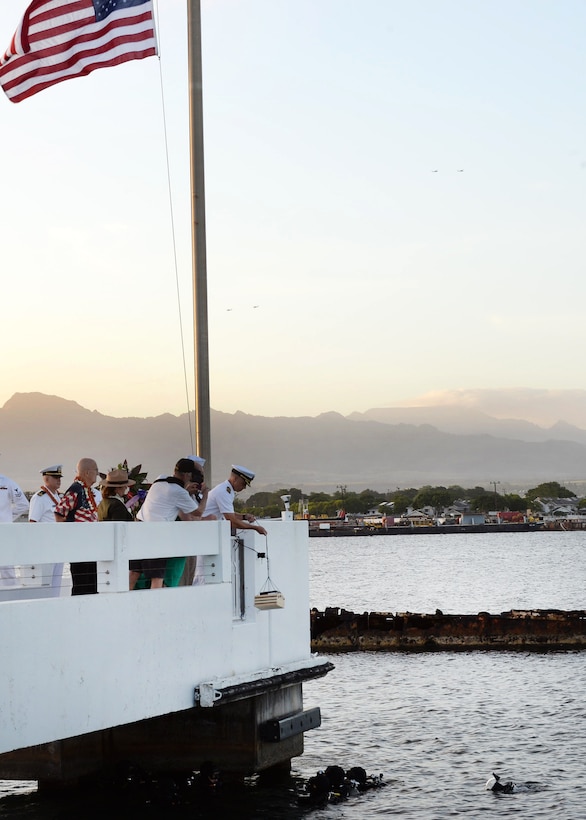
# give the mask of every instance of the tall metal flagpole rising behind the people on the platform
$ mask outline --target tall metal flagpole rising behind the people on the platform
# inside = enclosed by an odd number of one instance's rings
[[[187,0],[189,60],[189,132],[191,154],[191,237],[193,255],[193,327],[195,366],[195,440],[206,459],[206,483],[212,482],[208,294],[206,268],[201,3]]]

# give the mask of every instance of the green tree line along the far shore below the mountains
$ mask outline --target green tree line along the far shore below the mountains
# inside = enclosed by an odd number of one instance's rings
[[[576,498],[576,494],[557,481],[547,481],[527,490],[525,495],[518,493],[497,493],[484,487],[461,487],[452,484],[449,487],[432,487],[426,485],[416,489],[397,489],[394,492],[381,493],[377,490],[362,490],[353,492],[345,486],[339,485],[334,493],[304,493],[298,487],[276,490],[275,492],[253,493],[246,500],[237,499],[235,508],[240,512],[250,512],[263,518],[278,518],[284,509],[282,495],[290,495],[290,508],[295,513],[307,510],[309,515],[333,518],[339,510],[350,515],[364,515],[369,510],[380,509],[384,502],[393,503],[394,515],[407,512],[408,507],[421,509],[433,507],[434,510],[443,510],[450,507],[455,501],[467,501],[473,512],[489,512],[491,510],[510,510],[523,512],[529,508],[536,498]],[[582,506],[582,502],[581,502]],[[584,499],[586,507],[586,499]],[[384,509],[384,508],[383,508]]]

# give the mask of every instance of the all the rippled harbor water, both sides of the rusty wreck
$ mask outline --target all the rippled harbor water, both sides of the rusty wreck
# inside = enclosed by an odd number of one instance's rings
[[[586,608],[586,534],[376,536],[311,541],[311,603],[365,610],[466,613]],[[254,781],[162,818],[397,816],[582,820],[586,817],[586,653],[355,653],[304,687],[322,726],[305,736],[291,782]],[[363,766],[385,788],[326,808],[294,789],[328,765]],[[519,789],[484,789],[497,771]],[[34,784],[0,781],[0,817],[103,818],[101,797],[40,801]],[[143,812],[144,814],[144,812]]]

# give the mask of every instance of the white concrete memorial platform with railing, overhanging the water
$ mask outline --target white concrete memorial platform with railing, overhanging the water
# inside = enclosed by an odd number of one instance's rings
[[[263,524],[266,539],[249,530],[240,541],[227,522],[0,525],[0,564],[97,560],[99,589],[52,598],[30,582],[0,590],[0,777],[67,776],[54,761],[43,770],[35,762],[41,753],[29,755],[27,768],[26,750],[43,747],[46,757],[46,744],[113,729],[122,737],[120,727],[131,724],[136,739],[142,722],[172,713],[197,722],[228,701],[271,690],[280,702],[273,699],[267,714],[265,701],[255,734],[262,721],[299,714],[301,681],[331,667],[310,651],[307,523]],[[254,605],[267,579],[267,547],[282,609]],[[178,555],[201,556],[204,584],[128,591],[130,559]],[[250,740],[256,750],[243,768],[279,762],[274,746],[263,757],[259,737]],[[299,743],[283,749],[285,759],[300,753]],[[193,753],[203,751],[199,744]]]

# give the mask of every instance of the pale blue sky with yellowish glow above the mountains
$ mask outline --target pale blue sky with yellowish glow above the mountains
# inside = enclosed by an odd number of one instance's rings
[[[160,60],[0,92],[0,406],[193,408],[185,9]],[[585,35],[582,0],[202,0],[214,409],[586,387]]]

